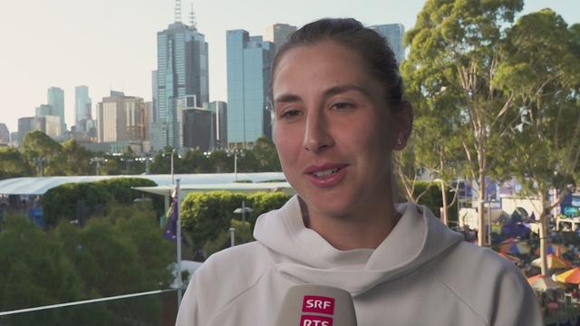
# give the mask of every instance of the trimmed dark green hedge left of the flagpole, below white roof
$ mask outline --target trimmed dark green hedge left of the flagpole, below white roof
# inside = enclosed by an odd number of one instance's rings
[[[139,177],[116,177],[97,182],[64,184],[48,190],[43,197],[44,222],[47,227],[57,225],[60,220],[77,219],[77,203],[84,202],[87,216],[97,213],[99,206],[111,201],[131,204],[133,199],[143,196],[131,187],[156,186],[153,181]],[[151,196],[156,212],[162,212],[160,197]]]

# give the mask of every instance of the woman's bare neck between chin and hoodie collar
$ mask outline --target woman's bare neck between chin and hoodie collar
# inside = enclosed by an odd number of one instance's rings
[[[324,216],[309,209],[302,198],[300,208],[304,225],[339,250],[378,247],[401,218],[388,200],[364,211],[353,210],[356,213],[351,216]]]

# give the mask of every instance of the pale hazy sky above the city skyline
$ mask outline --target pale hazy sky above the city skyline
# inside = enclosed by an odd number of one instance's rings
[[[189,24],[190,0],[181,0]],[[275,23],[301,26],[323,17],[354,17],[365,25],[415,24],[423,0],[195,0],[198,31],[209,45],[209,100],[227,101],[226,31],[263,34]],[[578,0],[526,0],[524,13],[551,7],[580,23]],[[0,123],[34,116],[48,88],[64,90],[65,121],[74,120],[74,87],[86,85],[95,105],[111,90],[151,101],[157,32],[175,20],[174,0],[0,1]]]

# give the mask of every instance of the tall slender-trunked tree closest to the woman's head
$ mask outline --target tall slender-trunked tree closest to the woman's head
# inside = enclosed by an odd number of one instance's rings
[[[523,7],[522,0],[428,0],[405,36],[411,51],[407,67],[426,98],[441,91],[454,95],[469,132],[461,139],[469,175],[478,182],[478,242],[484,243],[485,177],[502,153],[499,135],[509,128],[510,97],[492,83],[500,57],[502,29]]]

